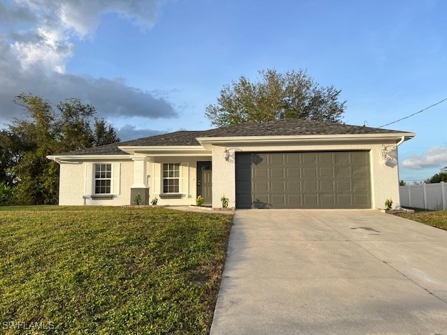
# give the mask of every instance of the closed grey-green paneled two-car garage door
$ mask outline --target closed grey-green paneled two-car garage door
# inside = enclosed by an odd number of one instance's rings
[[[236,153],[237,208],[371,208],[369,151]]]

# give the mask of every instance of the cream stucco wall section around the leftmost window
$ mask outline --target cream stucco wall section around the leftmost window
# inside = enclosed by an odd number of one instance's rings
[[[85,169],[91,163],[119,163],[120,183],[119,194],[114,195],[112,200],[92,200],[85,196]],[[60,163],[59,177],[59,204],[60,205],[102,205],[121,206],[130,204],[133,183],[133,161],[108,161],[95,160],[88,162]]]

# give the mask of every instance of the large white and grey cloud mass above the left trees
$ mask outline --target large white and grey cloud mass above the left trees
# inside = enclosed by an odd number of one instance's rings
[[[129,87],[124,80],[66,73],[76,38],[93,38],[101,14],[118,13],[147,29],[161,0],[0,0],[0,119],[17,117],[22,92],[56,103],[83,98],[100,117],[177,117],[166,97]]]

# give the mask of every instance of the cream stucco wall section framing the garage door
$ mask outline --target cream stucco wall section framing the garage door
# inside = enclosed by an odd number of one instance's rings
[[[395,145],[395,142],[376,144],[304,144],[304,145],[227,145],[233,154],[237,151],[336,151],[336,150],[367,150],[371,169],[372,208],[384,208],[386,199],[392,199],[393,204],[400,203],[399,172],[397,165],[388,166],[383,163],[381,149],[383,144]],[[235,207],[235,162],[226,161],[225,146],[212,146],[212,207],[221,207],[221,197],[226,195],[229,207]]]

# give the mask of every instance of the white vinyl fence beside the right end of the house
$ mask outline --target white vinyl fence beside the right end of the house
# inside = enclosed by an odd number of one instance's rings
[[[447,210],[447,186],[436,184],[399,186],[400,205],[425,209]]]

